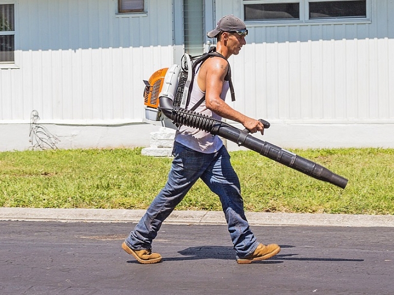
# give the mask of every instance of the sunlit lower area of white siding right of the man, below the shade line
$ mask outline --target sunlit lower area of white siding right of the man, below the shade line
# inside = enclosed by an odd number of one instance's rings
[[[237,104],[278,120],[393,120],[393,55],[387,37],[251,44],[233,58]]]

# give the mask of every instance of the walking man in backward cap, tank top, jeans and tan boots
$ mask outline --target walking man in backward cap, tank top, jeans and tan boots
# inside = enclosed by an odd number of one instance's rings
[[[207,34],[208,37],[217,38],[216,52],[224,58],[210,57],[196,69],[188,107],[191,108],[205,95],[205,102],[196,108],[196,112],[217,120],[225,117],[241,123],[252,133],[260,131],[263,134],[264,126],[261,122],[232,109],[224,102],[229,88],[229,83],[225,80],[229,70],[227,58],[240,52],[246,44],[247,33],[241,19],[227,15]],[[258,243],[250,230],[245,217],[238,176],[218,136],[181,126],[175,134],[172,154],[174,159],[165,187],[122,244],[127,253],[143,264],[162,260],[159,253],[152,252],[152,241],[162,222],[199,178],[220,198],[238,263],[249,264],[279,253],[281,248],[277,244]]]

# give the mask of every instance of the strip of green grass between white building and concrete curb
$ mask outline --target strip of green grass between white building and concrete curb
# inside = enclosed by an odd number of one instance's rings
[[[245,209],[394,214],[394,149],[293,150],[349,179],[346,189],[253,151],[231,152]],[[164,186],[170,158],[137,149],[0,152],[0,206],[146,209]],[[221,210],[201,181],[179,210]]]

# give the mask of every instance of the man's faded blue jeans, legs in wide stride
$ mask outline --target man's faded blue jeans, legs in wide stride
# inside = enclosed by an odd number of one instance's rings
[[[220,198],[237,258],[251,254],[259,243],[246,220],[240,181],[227,149],[223,146],[218,152],[205,154],[174,142],[172,154],[174,159],[166,185],[130,233],[126,244],[135,250],[151,249],[163,221],[201,178]]]

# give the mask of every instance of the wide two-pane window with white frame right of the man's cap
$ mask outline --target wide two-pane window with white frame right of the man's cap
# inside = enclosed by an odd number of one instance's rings
[[[368,21],[370,0],[244,0],[245,22],[303,23]]]

